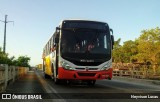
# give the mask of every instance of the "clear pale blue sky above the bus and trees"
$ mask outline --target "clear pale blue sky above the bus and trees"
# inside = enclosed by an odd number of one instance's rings
[[[121,44],[142,30],[160,27],[160,0],[0,0],[0,20],[8,15],[6,52],[26,55],[32,66],[42,63],[43,47],[63,19],[103,21]],[[4,23],[0,22],[3,48]]]

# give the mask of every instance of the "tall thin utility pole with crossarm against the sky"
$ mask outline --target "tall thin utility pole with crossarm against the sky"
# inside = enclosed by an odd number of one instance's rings
[[[8,15],[5,15],[5,21],[1,21],[1,22],[3,22],[4,23],[4,42],[3,42],[3,53],[6,53],[6,28],[7,28],[7,23],[9,23],[9,22],[13,22],[14,23],[14,21],[7,21],[7,16]]]

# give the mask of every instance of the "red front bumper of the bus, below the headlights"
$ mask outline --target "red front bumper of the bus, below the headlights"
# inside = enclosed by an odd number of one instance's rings
[[[80,70],[66,70],[63,67],[58,68],[58,79],[68,80],[100,80],[112,79],[113,69],[103,71],[80,71]]]

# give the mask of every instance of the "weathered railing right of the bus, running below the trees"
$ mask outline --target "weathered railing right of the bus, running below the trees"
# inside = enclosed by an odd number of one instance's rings
[[[113,76],[140,79],[160,79],[160,67],[157,65],[113,63]]]

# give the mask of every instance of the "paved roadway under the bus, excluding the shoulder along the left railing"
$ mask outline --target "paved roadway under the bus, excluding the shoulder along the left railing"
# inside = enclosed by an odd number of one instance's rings
[[[160,100],[160,87],[159,85],[151,85],[146,83],[135,83],[119,80],[102,80],[97,81],[95,86],[87,86],[85,83],[74,83],[55,85],[52,79],[44,79],[42,71],[36,71],[40,82],[48,93],[58,93],[59,98],[65,98],[63,101],[67,102],[97,102],[101,98],[102,102],[121,102],[121,101],[152,101],[159,102]],[[138,94],[137,94],[138,93]],[[159,99],[130,99],[131,95],[151,95],[157,93]],[[156,94],[156,95],[157,95]],[[116,97],[115,97],[116,96]],[[68,98],[72,98],[68,99]],[[88,99],[90,98],[90,99]],[[96,99],[98,98],[98,99]],[[118,99],[120,98],[120,99]],[[73,100],[74,99],[74,100]],[[91,100],[92,99],[92,100]],[[118,100],[117,100],[118,99]]]

